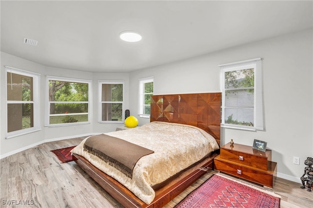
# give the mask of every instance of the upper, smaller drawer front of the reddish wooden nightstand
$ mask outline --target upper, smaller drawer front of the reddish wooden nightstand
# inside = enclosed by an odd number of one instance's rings
[[[268,169],[268,158],[221,148],[221,158],[243,165]]]

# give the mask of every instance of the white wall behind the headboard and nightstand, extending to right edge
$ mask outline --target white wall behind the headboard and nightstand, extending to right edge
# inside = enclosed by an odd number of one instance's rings
[[[138,79],[155,77],[155,94],[220,91],[219,64],[262,58],[266,130],[222,128],[221,143],[252,146],[266,141],[278,176],[300,182],[304,160],[313,156],[313,32],[307,30],[254,42],[130,74],[130,110],[137,111]],[[139,125],[149,119],[139,119]],[[300,157],[300,166],[292,164]]]

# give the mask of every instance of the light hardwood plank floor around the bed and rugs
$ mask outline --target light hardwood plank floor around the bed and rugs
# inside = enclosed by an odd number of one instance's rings
[[[0,207],[122,208],[75,162],[60,163],[50,152],[78,145],[83,139],[49,142],[1,159]],[[165,208],[174,207],[214,173],[216,171],[206,173]],[[308,192],[300,186],[277,178],[271,191],[281,196],[281,208],[313,208],[313,191]]]

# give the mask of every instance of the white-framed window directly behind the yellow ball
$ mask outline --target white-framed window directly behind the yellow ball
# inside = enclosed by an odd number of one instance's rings
[[[123,122],[124,81],[99,81],[99,92],[99,122]]]

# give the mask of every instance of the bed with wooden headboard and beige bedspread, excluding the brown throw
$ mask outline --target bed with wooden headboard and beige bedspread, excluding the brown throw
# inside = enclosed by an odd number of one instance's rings
[[[153,151],[137,161],[131,177],[84,152],[89,138],[75,147],[72,155],[77,159],[75,162],[123,206],[163,207],[208,168],[213,168],[213,158],[219,154],[220,112],[221,93],[152,96],[149,124],[105,133]],[[170,142],[174,144],[170,146]],[[183,159],[173,159],[172,152]],[[163,163],[158,164],[160,155],[173,161],[162,158]]]

